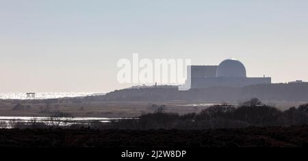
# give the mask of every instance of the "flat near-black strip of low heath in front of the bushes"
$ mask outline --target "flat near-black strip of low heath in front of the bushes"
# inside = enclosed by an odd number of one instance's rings
[[[147,131],[0,129],[0,147],[308,147],[308,126]]]

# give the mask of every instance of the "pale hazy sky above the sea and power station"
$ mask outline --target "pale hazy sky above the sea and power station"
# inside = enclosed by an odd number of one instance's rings
[[[308,81],[307,0],[0,0],[0,92],[108,92],[121,58]]]

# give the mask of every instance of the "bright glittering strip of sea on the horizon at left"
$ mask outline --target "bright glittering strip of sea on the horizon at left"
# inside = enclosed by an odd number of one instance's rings
[[[0,99],[59,99],[65,97],[86,97],[105,95],[104,92],[36,92],[27,95],[27,92],[0,92]]]

